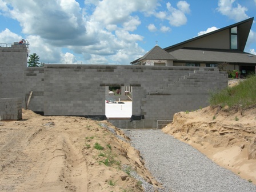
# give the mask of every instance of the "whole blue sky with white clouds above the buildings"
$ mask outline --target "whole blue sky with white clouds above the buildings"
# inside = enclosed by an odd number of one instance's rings
[[[129,65],[162,48],[254,17],[256,0],[0,0],[0,43],[30,43],[40,62]]]

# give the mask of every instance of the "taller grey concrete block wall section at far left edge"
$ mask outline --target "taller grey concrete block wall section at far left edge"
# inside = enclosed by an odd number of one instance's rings
[[[0,47],[0,61],[0,98],[24,98],[24,71],[27,66],[26,45]]]

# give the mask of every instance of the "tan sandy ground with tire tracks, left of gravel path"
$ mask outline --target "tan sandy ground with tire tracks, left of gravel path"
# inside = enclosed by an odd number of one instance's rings
[[[42,117],[30,110],[22,116],[0,122],[1,191],[143,191],[131,170],[161,187],[129,138],[107,121]]]

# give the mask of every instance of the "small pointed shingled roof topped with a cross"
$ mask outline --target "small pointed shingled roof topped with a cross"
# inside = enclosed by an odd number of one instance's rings
[[[142,61],[145,59],[152,60],[173,60],[175,59],[172,55],[170,55],[167,51],[163,50],[158,45],[155,45],[153,49],[147,52],[143,57],[139,58],[138,61]]]

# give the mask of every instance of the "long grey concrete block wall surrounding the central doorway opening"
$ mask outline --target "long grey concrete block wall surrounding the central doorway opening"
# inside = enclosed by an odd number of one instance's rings
[[[45,65],[44,85],[45,115],[105,115],[106,86],[133,86],[132,113],[165,120],[206,106],[207,90],[227,86],[227,75],[209,67]]]

